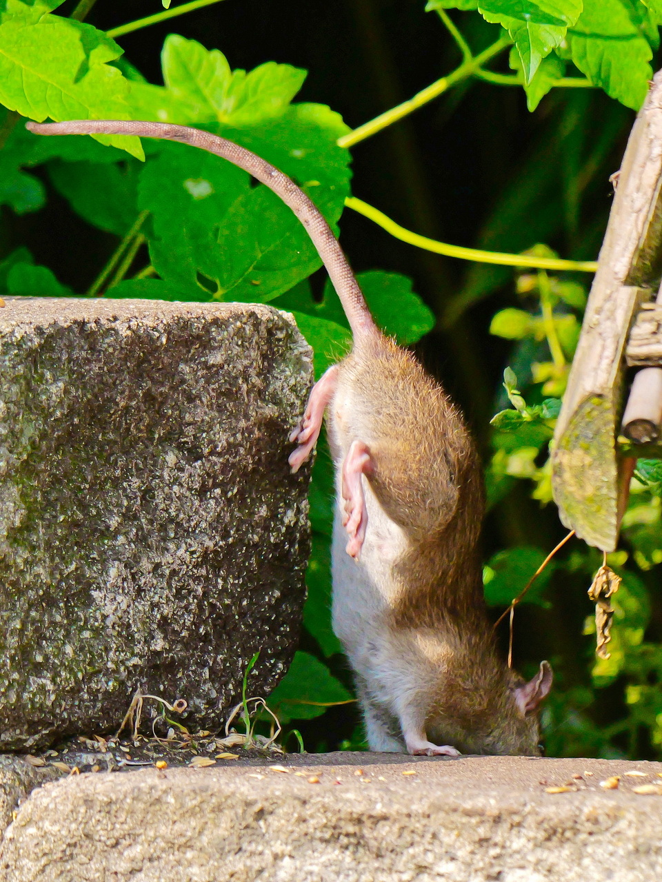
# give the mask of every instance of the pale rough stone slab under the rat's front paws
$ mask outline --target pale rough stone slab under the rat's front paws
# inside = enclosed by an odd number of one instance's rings
[[[252,761],[46,784],[5,833],[0,882],[662,878],[662,796],[633,792],[662,781],[661,763],[360,753],[279,762],[290,774]],[[613,775],[619,789],[602,789]],[[576,789],[545,792],[567,781]]]

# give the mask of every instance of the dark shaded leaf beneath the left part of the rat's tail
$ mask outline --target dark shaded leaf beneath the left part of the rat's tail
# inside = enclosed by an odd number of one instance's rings
[[[138,214],[137,169],[96,162],[49,162],[49,176],[71,208],[94,227],[125,235]]]

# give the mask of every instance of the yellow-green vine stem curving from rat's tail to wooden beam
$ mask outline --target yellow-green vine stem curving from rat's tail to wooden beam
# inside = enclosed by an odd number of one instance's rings
[[[447,258],[459,258],[461,260],[473,260],[480,264],[500,264],[501,266],[530,266],[544,270],[567,270],[575,273],[595,273],[598,263],[595,260],[562,260],[560,258],[537,258],[530,254],[507,254],[502,251],[482,251],[478,248],[463,248],[461,245],[449,245],[445,242],[437,242],[436,239],[428,239],[425,235],[412,233],[411,230],[401,227],[378,208],[369,206],[362,199],[349,196],[345,199],[345,205],[370,221],[378,224],[387,233],[400,239],[401,242],[415,245],[435,254],[443,254]]]

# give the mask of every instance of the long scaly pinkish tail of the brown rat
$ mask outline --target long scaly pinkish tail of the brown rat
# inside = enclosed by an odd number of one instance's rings
[[[244,168],[261,183],[273,190],[290,206],[308,231],[312,243],[320,254],[334,288],[340,297],[342,308],[350,322],[355,343],[377,333],[372,316],[358,287],[354,273],[342,252],[340,244],[322,217],[320,210],[294,181],[250,150],[232,141],[211,135],[208,131],[192,129],[187,125],[170,123],[139,123],[123,120],[71,120],[65,123],[26,123],[26,129],[38,135],[138,135],[140,138],[166,138],[200,147],[209,153],[222,156],[239,168]]]

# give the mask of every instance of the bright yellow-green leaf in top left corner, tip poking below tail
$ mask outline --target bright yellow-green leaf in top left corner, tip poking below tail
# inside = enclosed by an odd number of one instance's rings
[[[129,85],[111,64],[122,54],[102,31],[72,19],[43,15],[0,24],[0,101],[42,122],[127,119]],[[143,158],[139,138],[94,136]]]

